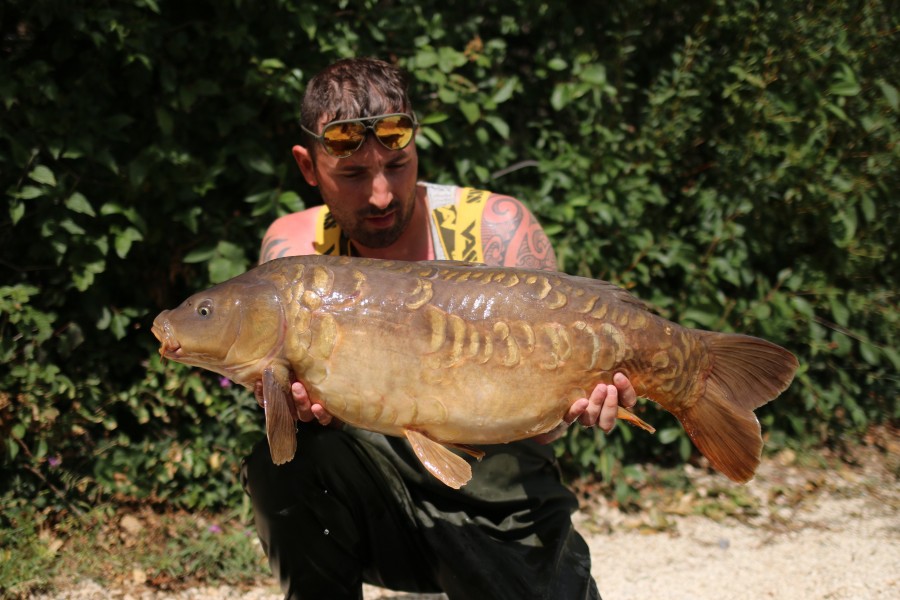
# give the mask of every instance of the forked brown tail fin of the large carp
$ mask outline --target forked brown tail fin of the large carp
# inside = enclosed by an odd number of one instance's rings
[[[688,436],[713,467],[729,479],[753,478],[762,456],[762,435],[753,410],[787,389],[797,358],[766,340],[697,331],[709,352],[699,397],[675,411]]]

